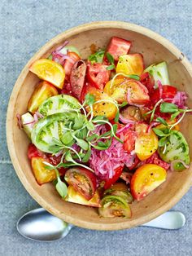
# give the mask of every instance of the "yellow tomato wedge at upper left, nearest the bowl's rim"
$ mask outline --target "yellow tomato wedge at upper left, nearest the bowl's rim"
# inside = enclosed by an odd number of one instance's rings
[[[55,61],[48,59],[36,60],[29,70],[42,80],[52,83],[59,89],[63,88],[65,72],[63,67]]]

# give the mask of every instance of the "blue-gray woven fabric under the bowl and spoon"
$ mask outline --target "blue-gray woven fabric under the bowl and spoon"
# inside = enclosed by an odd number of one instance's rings
[[[187,219],[179,231],[137,227],[96,232],[76,227],[65,240],[52,244],[25,240],[16,232],[15,223],[21,214],[38,205],[15,175],[5,132],[7,103],[15,80],[50,38],[94,20],[124,20],[160,33],[191,60],[192,2],[2,0],[0,10],[0,255],[192,255],[191,189],[174,207]]]

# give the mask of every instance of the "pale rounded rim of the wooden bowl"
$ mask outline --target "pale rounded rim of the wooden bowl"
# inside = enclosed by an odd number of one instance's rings
[[[137,24],[131,24],[123,21],[97,21],[97,22],[91,22],[87,24],[81,24],[79,26],[76,26],[72,29],[68,29],[64,31],[63,33],[59,33],[55,38],[50,39],[49,42],[46,42],[44,46],[41,46],[40,50],[36,52],[33,57],[28,60],[28,63],[24,66],[22,69],[20,76],[17,78],[15,82],[15,86],[13,87],[11,97],[9,99],[9,104],[7,108],[7,146],[9,150],[9,154],[11,157],[12,165],[14,166],[15,172],[18,175],[21,183],[23,183],[24,188],[28,191],[29,195],[33,197],[35,201],[37,201],[38,204],[40,204],[44,209],[48,210],[50,214],[54,214],[58,218],[62,218],[68,223],[72,223],[78,227],[85,227],[88,229],[94,229],[94,230],[120,230],[124,228],[130,228],[130,227],[136,227],[141,225],[142,223],[146,223],[151,221],[151,219],[158,217],[160,214],[163,214],[165,211],[170,210],[173,205],[175,205],[182,196],[185,195],[185,193],[189,190],[191,181],[188,180],[185,183],[185,186],[182,186],[177,191],[177,194],[172,197],[171,201],[166,201],[164,205],[162,205],[157,210],[151,212],[150,214],[147,214],[145,216],[142,216],[142,218],[138,218],[135,220],[127,220],[122,223],[91,223],[86,220],[79,220],[76,218],[73,218],[72,216],[67,216],[60,212],[59,210],[53,209],[53,206],[46,202],[43,198],[41,198],[40,195],[36,192],[35,189],[30,185],[28,182],[28,179],[25,178],[23,175],[23,170],[21,170],[20,162],[16,157],[15,148],[12,147],[13,145],[13,123],[15,122],[15,117],[13,115],[12,106],[15,105],[15,101],[18,97],[20,86],[23,84],[25,77],[28,74],[28,67],[30,64],[33,63],[33,61],[39,59],[41,55],[44,55],[51,47],[54,47],[58,45],[60,42],[62,42],[64,39],[69,38],[71,36],[76,35],[77,33],[85,32],[88,30],[93,29],[127,29],[136,33],[140,33],[148,38],[152,38],[155,41],[158,41],[161,45],[163,45],[165,48],[168,49],[168,51],[171,51],[173,55],[176,56],[177,60],[181,61],[181,63],[184,65],[186,71],[190,74],[190,77],[192,77],[192,66],[190,64],[190,61],[187,60],[185,55],[181,51],[177,49],[176,46],[172,44],[172,42],[169,42],[168,39],[165,39],[164,37],[160,36],[158,33],[155,33],[151,29],[146,29],[145,27],[142,27]],[[56,43],[55,43],[56,42]]]

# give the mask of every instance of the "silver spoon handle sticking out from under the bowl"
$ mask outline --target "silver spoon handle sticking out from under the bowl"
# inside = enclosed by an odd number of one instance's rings
[[[144,227],[156,227],[163,229],[179,229],[185,225],[185,215],[180,211],[168,211],[159,217],[144,223]]]

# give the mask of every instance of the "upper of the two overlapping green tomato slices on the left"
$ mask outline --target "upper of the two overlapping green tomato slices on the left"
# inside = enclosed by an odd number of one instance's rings
[[[44,117],[55,113],[63,113],[76,110],[80,112],[81,104],[70,95],[56,95],[46,99],[38,108],[38,112]]]

